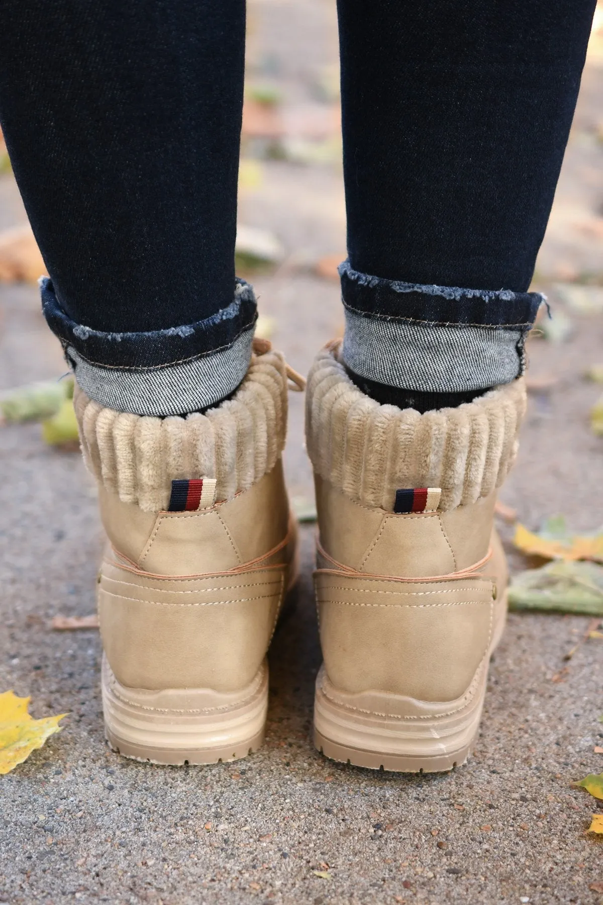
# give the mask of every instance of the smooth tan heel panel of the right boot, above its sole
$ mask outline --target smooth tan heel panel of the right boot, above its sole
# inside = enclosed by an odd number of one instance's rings
[[[320,569],[316,599],[325,670],[341,691],[455,700],[492,643],[485,576],[419,582]]]

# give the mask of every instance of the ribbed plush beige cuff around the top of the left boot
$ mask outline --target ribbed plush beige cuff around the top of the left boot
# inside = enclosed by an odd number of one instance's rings
[[[236,393],[206,414],[116,412],[91,402],[77,384],[73,402],[86,464],[123,502],[165,510],[172,481],[203,477],[217,479],[217,500],[229,500],[270,472],[283,451],[285,358],[272,350],[254,354]]]

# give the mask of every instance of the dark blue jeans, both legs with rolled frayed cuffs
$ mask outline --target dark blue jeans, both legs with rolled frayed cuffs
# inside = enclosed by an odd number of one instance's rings
[[[522,371],[594,6],[339,0],[355,375],[438,394]],[[44,311],[105,405],[189,411],[247,367],[244,31],[243,0],[0,9],[0,121],[51,275]]]

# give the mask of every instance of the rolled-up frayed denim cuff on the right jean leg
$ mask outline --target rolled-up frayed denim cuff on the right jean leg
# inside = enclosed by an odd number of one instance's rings
[[[359,376],[425,393],[510,383],[540,292],[485,291],[383,280],[340,265],[343,358]]]

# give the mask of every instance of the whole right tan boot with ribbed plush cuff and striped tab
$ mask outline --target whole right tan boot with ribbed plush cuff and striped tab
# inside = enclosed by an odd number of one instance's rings
[[[306,435],[325,660],[315,741],[327,757],[403,772],[468,757],[506,614],[495,491],[524,407],[520,379],[421,415],[363,395],[337,343],[316,358]]]

